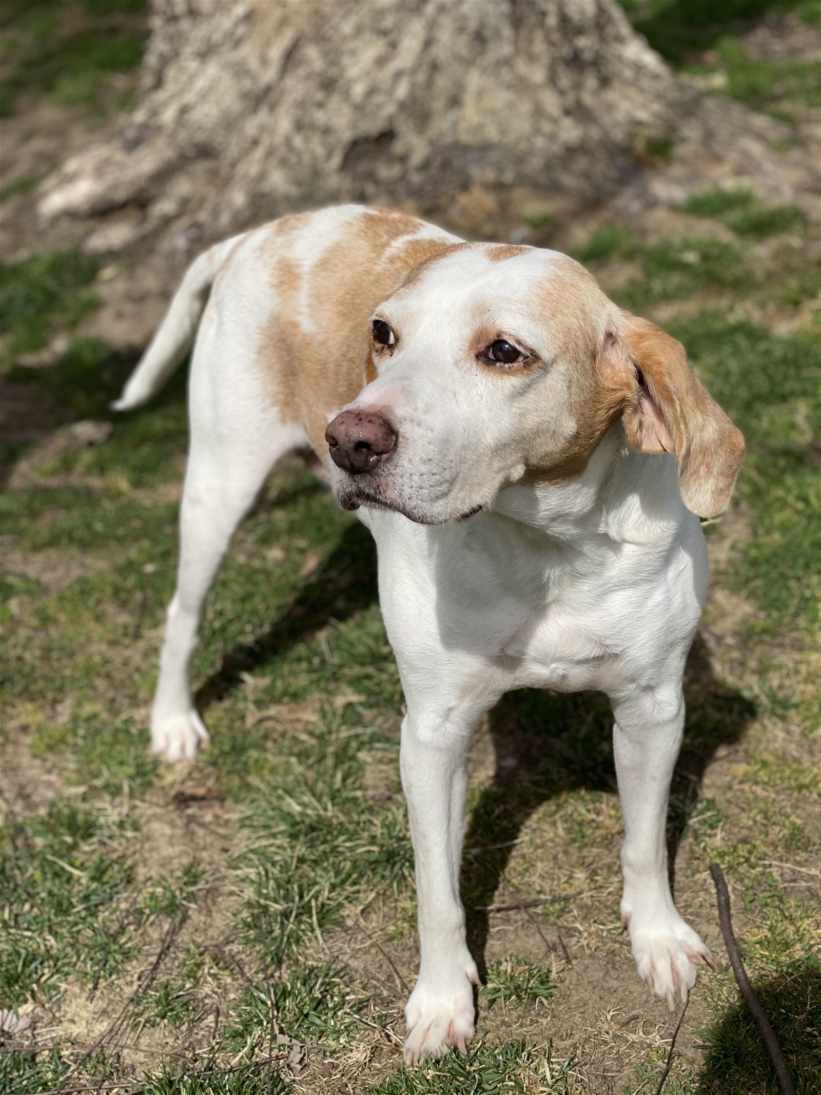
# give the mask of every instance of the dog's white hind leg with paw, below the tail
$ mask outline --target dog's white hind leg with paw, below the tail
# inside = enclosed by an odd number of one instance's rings
[[[192,365],[180,568],[151,713],[151,748],[169,761],[190,759],[208,744],[192,698],[190,664],[203,604],[231,537],[274,464],[307,443],[301,427],[281,422],[253,373],[236,359],[222,365],[209,335],[201,332]]]

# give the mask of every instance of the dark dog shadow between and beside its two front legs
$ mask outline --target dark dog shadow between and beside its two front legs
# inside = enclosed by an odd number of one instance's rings
[[[738,740],[755,715],[754,704],[713,676],[698,638],[687,659],[684,692],[687,721],[668,817],[671,875],[707,764],[716,748]],[[513,843],[533,810],[553,796],[616,789],[612,728],[610,703],[594,692],[528,689],[508,693],[490,713],[497,771],[465,837],[466,848],[487,851],[465,856],[462,877],[469,945],[483,976],[488,914],[481,907],[493,904]]]

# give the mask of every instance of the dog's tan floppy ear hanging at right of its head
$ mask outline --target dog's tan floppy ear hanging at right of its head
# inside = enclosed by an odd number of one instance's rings
[[[715,517],[730,500],[744,438],[698,382],[681,343],[629,312],[608,336],[606,369],[625,384],[622,422],[641,452],[674,452],[684,505]]]

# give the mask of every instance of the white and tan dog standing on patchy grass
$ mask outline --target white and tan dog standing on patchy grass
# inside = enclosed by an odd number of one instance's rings
[[[189,685],[203,602],[271,466],[302,451],[375,538],[407,701],[421,963],[406,1059],[474,1033],[465,756],[510,689],[610,696],[622,915],[639,975],[671,1005],[684,998],[710,961],[673,904],[664,839],[707,589],[696,515],[727,505],[743,439],[681,345],[565,255],[357,206],[285,217],[197,260],[115,405],[148,400],[195,333],[153,748],[173,761],[208,742]]]

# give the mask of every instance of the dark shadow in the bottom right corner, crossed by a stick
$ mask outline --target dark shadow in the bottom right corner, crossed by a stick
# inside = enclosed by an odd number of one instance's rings
[[[821,1091],[821,963],[786,965],[778,977],[753,983],[784,1052],[798,1095]],[[778,1091],[775,1072],[747,1004],[727,1008],[721,1021],[699,1031],[705,1051],[702,1092],[714,1095],[770,1095]]]

